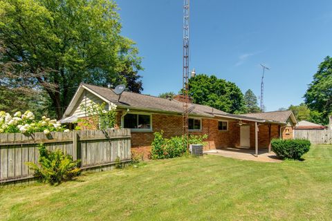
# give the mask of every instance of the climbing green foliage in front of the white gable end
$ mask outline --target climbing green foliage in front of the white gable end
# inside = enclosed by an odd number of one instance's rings
[[[109,111],[106,110],[106,103],[92,104],[91,106],[85,106],[82,104],[81,109],[89,116],[90,119],[82,119],[84,124],[88,125],[90,121],[99,122],[100,129],[114,128],[116,127],[116,104],[109,104]],[[91,119],[92,117],[92,119]]]

